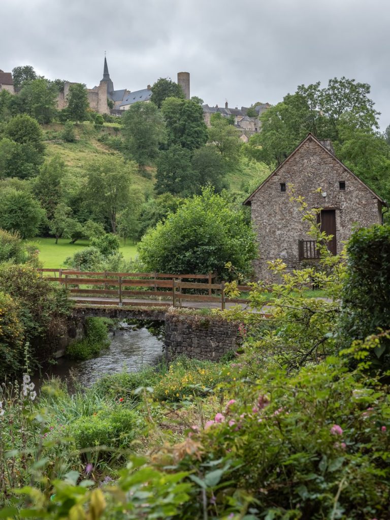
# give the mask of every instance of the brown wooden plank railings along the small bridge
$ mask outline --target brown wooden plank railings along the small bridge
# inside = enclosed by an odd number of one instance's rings
[[[96,272],[96,271],[74,271],[64,269],[39,269],[49,281],[63,284],[71,294],[72,300],[77,303],[95,303],[113,305],[123,303],[131,305],[159,305],[159,306],[179,306],[184,301],[218,303],[222,309],[226,305],[225,282],[212,283],[216,275],[174,275],[157,272]],[[47,276],[54,274],[54,276]],[[56,276],[58,274],[58,276]],[[183,280],[195,279],[197,282]],[[207,280],[201,282],[200,280]],[[86,286],[93,287],[86,287]],[[94,287],[94,286],[101,287]],[[81,287],[84,286],[84,287]],[[134,289],[128,289],[134,288]],[[141,288],[145,288],[141,290]],[[183,290],[204,290],[207,294],[193,294],[183,292]],[[248,285],[239,285],[239,291],[247,292],[252,288]],[[145,301],[132,302],[135,296],[148,298],[157,297],[159,302]],[[91,300],[94,297],[96,299]],[[163,301],[164,300],[164,301]],[[168,300],[166,302],[165,300]],[[229,299],[233,303],[247,303],[246,298]]]

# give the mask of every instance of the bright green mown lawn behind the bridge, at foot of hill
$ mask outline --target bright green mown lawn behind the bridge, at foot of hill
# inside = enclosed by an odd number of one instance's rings
[[[68,256],[73,256],[76,251],[88,246],[87,240],[77,240],[75,244],[70,244],[68,238],[60,238],[58,244],[54,238],[35,238],[32,240],[40,250],[40,259],[43,267],[60,268],[65,267],[63,262]],[[132,245],[132,241],[121,246],[121,252],[126,260],[137,255],[137,246]]]

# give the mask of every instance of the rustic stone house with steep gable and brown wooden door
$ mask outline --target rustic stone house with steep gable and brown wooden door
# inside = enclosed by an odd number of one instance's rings
[[[289,185],[296,196],[305,197],[308,208],[321,209],[318,222],[321,231],[333,235],[328,248],[334,254],[341,252],[354,226],[382,223],[384,201],[335,157],[330,141],[308,134],[244,201],[251,206],[258,239],[258,278],[271,278],[268,260],[281,258],[293,269],[318,259],[316,243],[307,235],[308,223],[302,222],[297,203],[289,200]]]

